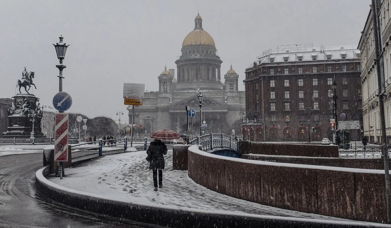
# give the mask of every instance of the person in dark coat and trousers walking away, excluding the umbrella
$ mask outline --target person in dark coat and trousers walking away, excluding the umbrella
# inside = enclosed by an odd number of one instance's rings
[[[153,186],[154,191],[158,190],[158,172],[159,172],[159,188],[163,187],[163,172],[164,169],[164,157],[167,154],[167,146],[160,139],[155,139],[149,144],[147,149],[147,158],[149,157],[149,169],[152,169],[153,173]]]

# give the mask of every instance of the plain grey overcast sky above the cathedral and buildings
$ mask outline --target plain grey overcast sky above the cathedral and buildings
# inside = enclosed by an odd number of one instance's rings
[[[89,117],[124,111],[123,83],[158,90],[158,75],[181,54],[199,14],[223,61],[239,74],[262,51],[278,45],[314,43],[357,47],[370,0],[232,1],[3,1],[0,6],[0,97],[15,94],[23,67],[34,71],[43,105],[58,92],[58,64],[52,43],[70,44],[63,91],[69,112]],[[177,72],[175,71],[175,74]],[[175,75],[176,76],[176,75]],[[23,90],[23,88],[22,88]],[[30,90],[30,92],[31,92]],[[23,92],[23,91],[22,91]]]

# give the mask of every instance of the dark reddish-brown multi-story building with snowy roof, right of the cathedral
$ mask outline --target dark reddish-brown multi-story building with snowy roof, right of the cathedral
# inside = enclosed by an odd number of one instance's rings
[[[242,134],[255,141],[332,139],[334,89],[337,113],[362,121],[360,51],[351,47],[314,48],[283,45],[263,52],[246,69],[246,112],[257,124],[243,124]],[[341,120],[341,118],[339,118]],[[360,132],[352,131],[360,140]]]

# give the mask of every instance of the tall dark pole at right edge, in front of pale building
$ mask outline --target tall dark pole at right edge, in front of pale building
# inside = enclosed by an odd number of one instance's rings
[[[384,87],[382,85],[382,76],[384,75],[384,65],[382,64],[383,52],[380,54],[380,50],[382,50],[382,42],[380,37],[380,26],[379,26],[379,0],[372,0],[372,16],[373,16],[373,35],[375,38],[375,65],[377,71],[377,83],[378,83],[378,97],[379,97],[379,107],[380,107],[380,124],[382,131],[382,150],[383,150],[383,158],[384,158],[384,176],[386,179],[386,201],[387,201],[387,222],[391,223],[391,188],[390,188],[390,176],[389,176],[389,167],[388,167],[388,150],[387,150],[387,135],[386,135],[386,118],[384,115]],[[380,66],[382,65],[382,66]],[[381,69],[382,67],[383,69]],[[383,74],[382,74],[383,72]]]

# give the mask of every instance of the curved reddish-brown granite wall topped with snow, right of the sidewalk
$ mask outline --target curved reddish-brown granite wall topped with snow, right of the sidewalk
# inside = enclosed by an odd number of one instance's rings
[[[239,199],[345,219],[385,222],[384,171],[230,158],[188,148],[188,176]]]

